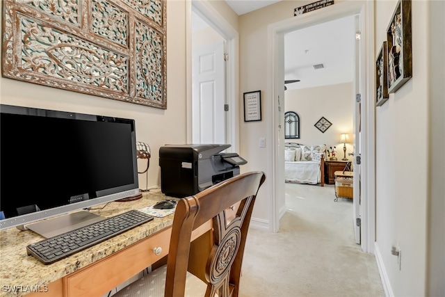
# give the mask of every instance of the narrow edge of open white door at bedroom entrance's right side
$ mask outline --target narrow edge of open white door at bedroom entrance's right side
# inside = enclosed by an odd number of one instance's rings
[[[360,216],[360,143],[361,143],[361,131],[362,131],[362,99],[360,95],[360,29],[359,29],[359,17],[355,17],[355,31],[358,35],[356,35],[355,39],[355,104],[354,104],[354,141],[353,141],[353,154],[354,154],[354,199],[353,199],[353,224],[354,224],[354,234],[355,234],[355,243],[361,243],[361,216]]]

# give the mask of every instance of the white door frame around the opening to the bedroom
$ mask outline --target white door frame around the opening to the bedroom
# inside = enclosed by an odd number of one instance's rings
[[[374,7],[372,1],[343,1],[311,13],[284,19],[268,26],[268,83],[271,91],[269,133],[274,162],[268,168],[272,177],[273,199],[270,199],[270,230],[280,230],[280,218],[283,214],[282,200],[284,182],[282,166],[284,163],[284,137],[282,120],[284,110],[284,33],[304,29],[340,17],[359,15],[362,28],[360,67],[360,93],[362,94],[362,250],[373,252],[375,243],[375,106],[374,106]]]

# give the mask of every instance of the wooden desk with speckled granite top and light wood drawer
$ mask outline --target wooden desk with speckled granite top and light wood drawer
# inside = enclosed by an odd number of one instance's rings
[[[163,200],[161,191],[144,193],[132,202],[111,202],[104,209],[94,210],[101,216],[114,216],[129,209],[143,209]],[[99,208],[101,206],[98,206]],[[0,232],[0,297],[24,296],[102,296],[133,277],[147,266],[168,255],[173,215],[154,220],[123,234],[62,259],[44,265],[26,255],[26,246],[42,240],[32,231],[15,227]],[[194,231],[194,238],[211,228],[211,223]],[[154,248],[161,247],[160,255]],[[19,286],[17,291],[11,291]],[[21,287],[20,287],[21,286]],[[43,292],[42,292],[43,291]]]

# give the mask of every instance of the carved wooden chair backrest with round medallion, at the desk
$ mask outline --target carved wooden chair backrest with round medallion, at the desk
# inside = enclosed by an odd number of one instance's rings
[[[264,172],[247,172],[179,200],[170,238],[165,296],[184,296],[187,271],[207,284],[205,296],[238,296],[250,217],[265,179]],[[230,219],[226,210],[234,205],[238,209]],[[213,223],[211,232],[191,243],[192,231],[209,220]]]

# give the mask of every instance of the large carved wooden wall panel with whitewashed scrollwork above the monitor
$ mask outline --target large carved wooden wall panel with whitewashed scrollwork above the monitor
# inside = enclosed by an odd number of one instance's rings
[[[164,0],[3,0],[2,75],[167,108]]]

